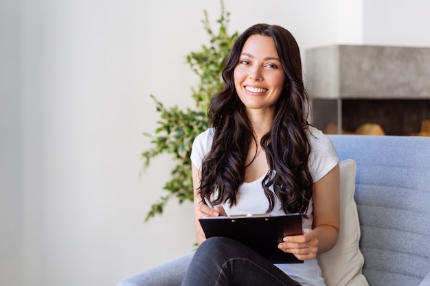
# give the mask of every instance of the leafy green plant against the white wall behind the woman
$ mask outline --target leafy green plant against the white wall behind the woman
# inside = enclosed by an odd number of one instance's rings
[[[194,198],[190,160],[192,142],[199,133],[209,127],[207,105],[212,95],[222,88],[223,64],[238,37],[237,32],[231,36],[227,33],[229,12],[225,11],[222,0],[220,19],[216,21],[219,25],[217,33],[210,27],[207,11],[203,12],[205,18],[202,23],[210,37],[210,45],[203,45],[199,51],[192,51],[186,56],[186,62],[200,79],[199,84],[192,88],[195,108],[185,110],[177,106],[166,108],[154,95],[150,95],[155,101],[160,118],[153,134],[144,133],[150,137],[151,144],[148,150],[142,152],[144,167],[150,165],[152,158],[166,153],[174,157],[177,165],[172,171],[172,178],[163,187],[166,194],[161,195],[159,201],[152,204],[145,221],[163,213],[163,207],[172,198],[179,200],[179,204],[186,200],[192,201]]]

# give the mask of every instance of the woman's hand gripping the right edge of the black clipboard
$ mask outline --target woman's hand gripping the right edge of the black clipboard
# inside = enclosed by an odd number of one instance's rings
[[[303,235],[284,237],[278,248],[284,252],[292,253],[299,260],[314,259],[318,253],[318,238],[314,230],[305,228]]]

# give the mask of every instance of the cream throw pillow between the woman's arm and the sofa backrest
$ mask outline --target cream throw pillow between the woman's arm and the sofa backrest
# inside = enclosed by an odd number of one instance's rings
[[[360,224],[354,201],[357,165],[348,159],[340,164],[340,215],[341,228],[335,247],[317,257],[326,286],[368,286],[361,274],[364,264],[359,249]]]

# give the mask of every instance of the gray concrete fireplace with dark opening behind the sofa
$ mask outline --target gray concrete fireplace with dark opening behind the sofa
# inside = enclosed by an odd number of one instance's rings
[[[376,123],[407,135],[430,119],[430,47],[332,45],[306,51],[312,123],[353,132]]]

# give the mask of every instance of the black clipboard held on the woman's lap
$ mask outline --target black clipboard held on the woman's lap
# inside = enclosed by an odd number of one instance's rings
[[[278,248],[283,237],[302,235],[302,214],[280,216],[203,217],[199,219],[206,238],[228,237],[252,248],[272,263],[303,263]]]

